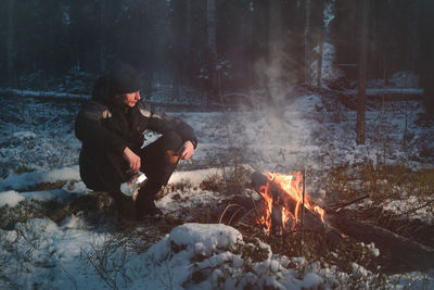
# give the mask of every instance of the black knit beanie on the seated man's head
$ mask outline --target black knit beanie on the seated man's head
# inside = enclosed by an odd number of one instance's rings
[[[120,61],[113,64],[108,74],[108,84],[114,94],[135,92],[142,88],[139,73]]]

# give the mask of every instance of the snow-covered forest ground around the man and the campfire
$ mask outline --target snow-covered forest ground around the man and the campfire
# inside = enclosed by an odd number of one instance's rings
[[[77,166],[80,143],[74,136],[74,119],[78,103],[37,98],[0,98],[0,213],[20,204],[62,203],[89,194]],[[107,247],[115,237],[113,227],[89,225],[81,212],[56,222],[24,218],[0,229],[1,289],[315,289],[345,287],[358,279],[370,288],[380,278],[356,263],[353,274],[340,273],[304,257],[273,254],[268,244],[244,241],[234,228],[194,224],[189,211],[217,207],[233,193],[201,189],[201,182],[233,165],[281,173],[305,168],[307,191],[321,204],[327,198],[321,180],[339,164],[381,160],[433,168],[434,123],[418,101],[379,103],[367,111],[365,146],[355,142],[356,112],[337,99],[310,93],[278,105],[173,114],[195,129],[199,147],[169,181],[189,187],[170,191],[157,206],[191,224],[175,227],[138,253],[128,247],[133,241]],[[56,182],[58,188],[43,188]],[[393,202],[386,210],[403,206]],[[433,272],[403,274],[387,276],[384,283],[429,289],[434,287],[433,277]]]

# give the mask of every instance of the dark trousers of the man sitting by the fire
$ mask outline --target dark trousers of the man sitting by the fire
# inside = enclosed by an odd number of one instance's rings
[[[177,152],[181,144],[182,138],[177,133],[168,131],[143,149],[135,150],[141,159],[140,169],[148,177],[137,198],[138,207],[145,207],[153,202],[162,186],[167,185],[177,166],[168,152]],[[97,191],[110,192],[116,203],[126,198],[120,192],[120,184],[129,178],[127,169],[128,164],[123,156],[107,152],[80,153],[80,176],[86,186]]]

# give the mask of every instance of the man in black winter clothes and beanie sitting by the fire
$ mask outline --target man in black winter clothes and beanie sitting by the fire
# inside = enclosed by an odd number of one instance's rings
[[[128,64],[115,64],[108,75],[95,81],[92,98],[85,103],[75,123],[76,136],[82,142],[81,179],[90,189],[110,192],[120,216],[132,218],[135,215],[139,220],[146,215],[162,214],[154,203],[156,193],[167,185],[178,157],[190,159],[197,146],[189,125],[140,102],[140,89],[138,72]],[[162,137],[142,148],[148,129]],[[139,190],[136,213],[132,213],[132,200],[120,192],[120,184],[139,171],[148,180]]]

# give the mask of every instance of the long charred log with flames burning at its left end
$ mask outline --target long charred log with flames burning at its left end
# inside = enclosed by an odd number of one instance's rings
[[[269,235],[279,232],[279,228],[284,228],[289,222],[285,219],[286,212],[292,213],[293,229],[295,225],[299,225],[299,212],[302,193],[299,188],[298,176],[295,180],[290,180],[291,188],[282,185],[279,180],[279,175],[263,174],[255,172],[251,176],[253,189],[258,192],[266,201],[267,224]],[[292,177],[294,178],[294,176]],[[297,193],[295,197],[290,192],[294,189]],[[365,199],[362,197],[358,200]],[[357,202],[352,201],[353,202]],[[348,203],[349,204],[349,203]],[[344,204],[341,207],[345,207]],[[326,211],[318,209],[309,200],[306,194],[304,227],[305,229],[323,234],[326,239],[331,243],[336,243],[343,240],[343,235],[353,237],[356,240],[366,243],[374,242],[380,249],[383,260],[383,268],[391,273],[401,270],[425,270],[434,265],[434,249],[414,242],[405,237],[398,236],[385,228],[375,225],[363,224],[346,217],[341,209],[336,211]],[[264,224],[264,222],[261,222]],[[385,262],[385,263],[384,263]]]

